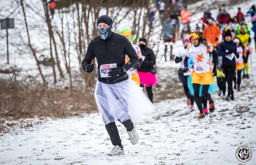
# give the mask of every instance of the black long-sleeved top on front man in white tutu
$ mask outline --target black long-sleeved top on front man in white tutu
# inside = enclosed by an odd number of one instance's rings
[[[130,58],[130,61],[127,64],[125,64],[125,55]],[[139,61],[138,56],[128,39],[114,32],[112,32],[112,35],[106,40],[103,40],[98,36],[89,43],[84,60],[82,61],[83,69],[86,64],[91,64],[94,57],[96,57],[98,62],[98,80],[101,82],[103,82],[102,79],[111,79],[110,77],[101,78],[101,65],[116,63],[117,67],[123,66],[128,71]]]

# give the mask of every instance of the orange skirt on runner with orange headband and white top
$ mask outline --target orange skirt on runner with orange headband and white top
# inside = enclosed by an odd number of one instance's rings
[[[195,71],[193,71],[191,74],[191,80],[192,84],[209,85],[214,83],[212,71],[206,73],[195,73]]]

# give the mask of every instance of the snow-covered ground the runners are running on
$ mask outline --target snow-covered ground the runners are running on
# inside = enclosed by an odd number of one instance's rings
[[[248,1],[242,6],[235,5],[229,12],[234,15],[238,6],[246,11],[252,4],[253,1]],[[201,16],[202,12],[198,14]],[[254,42],[252,45],[254,48]],[[178,41],[173,52],[179,51],[180,46],[182,43]],[[163,49],[160,54],[162,52]],[[253,152],[252,159],[243,164],[256,164],[256,72],[252,72],[255,56],[254,51],[253,66],[249,62],[250,79],[242,79],[241,91],[235,91],[235,100],[223,101],[213,94],[216,111],[202,120],[197,120],[197,109],[190,113],[184,95],[184,98],[155,103],[157,110],[136,123],[140,136],[136,145],[131,145],[125,128],[117,122],[125,155],[106,156],[113,146],[99,114],[92,113],[83,117],[47,118],[41,124],[28,124],[23,128],[14,126],[14,130],[0,136],[0,164],[233,165],[242,164],[235,157],[241,145],[249,146]],[[166,77],[165,84],[160,85],[172,83],[177,72],[163,71],[177,70],[179,64],[157,58],[160,61],[158,77]],[[27,122],[41,121],[35,118]]]

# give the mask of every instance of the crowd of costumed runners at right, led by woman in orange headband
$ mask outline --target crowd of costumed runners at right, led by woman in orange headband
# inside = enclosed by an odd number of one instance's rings
[[[226,101],[235,99],[233,89],[241,90],[242,77],[249,79],[248,59],[253,53],[251,29],[245,23],[241,8],[232,19],[225,8],[219,11],[217,20],[214,20],[207,7],[202,18],[202,32],[197,27],[195,32],[183,37],[184,49],[180,49],[175,58],[176,63],[181,63],[178,75],[187,96],[187,105],[190,111],[194,111],[195,101],[200,111],[198,119],[215,109],[211,98],[216,91],[214,76],[219,88],[218,96]],[[253,12],[255,15],[254,5],[248,13]],[[252,17],[254,15],[251,14]],[[251,20],[255,33],[256,20]]]

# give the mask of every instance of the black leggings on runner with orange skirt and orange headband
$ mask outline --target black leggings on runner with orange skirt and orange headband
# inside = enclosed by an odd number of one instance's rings
[[[200,84],[193,84],[193,88],[194,88],[194,94],[195,94],[195,96],[194,96],[195,103],[197,104],[197,107],[198,107],[200,113],[203,113],[202,98],[199,97]],[[208,101],[212,101],[211,95],[208,93],[208,89],[209,89],[209,85],[203,85],[202,97],[204,97]]]

